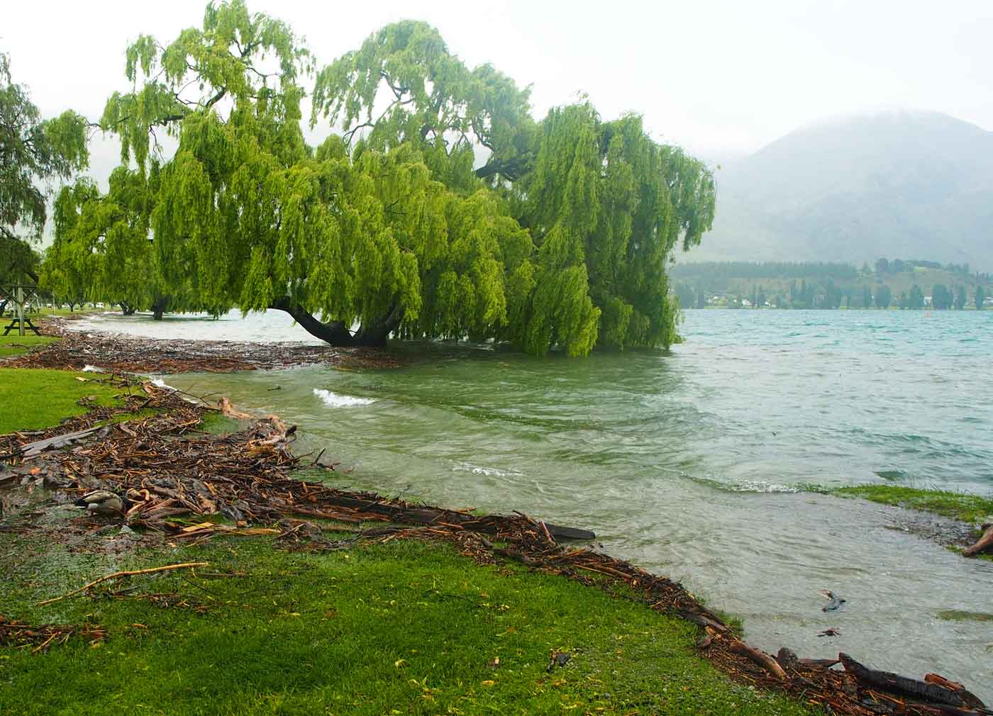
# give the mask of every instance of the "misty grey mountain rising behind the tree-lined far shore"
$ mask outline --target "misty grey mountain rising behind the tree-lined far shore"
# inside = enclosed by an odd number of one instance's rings
[[[936,112],[796,130],[717,172],[717,218],[682,261],[927,256],[993,270],[993,132]]]

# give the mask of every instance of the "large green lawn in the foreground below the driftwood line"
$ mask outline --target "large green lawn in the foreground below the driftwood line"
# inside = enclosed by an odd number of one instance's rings
[[[0,648],[2,713],[809,713],[731,683],[682,620],[561,577],[476,566],[448,545],[311,554],[230,537],[115,559],[0,533],[0,555],[0,614],[108,630],[95,646]],[[137,577],[107,588],[136,587],[127,599],[35,606],[116,569],[195,560],[247,576]],[[134,599],[169,592],[207,611]],[[549,673],[553,648],[572,658]]]

